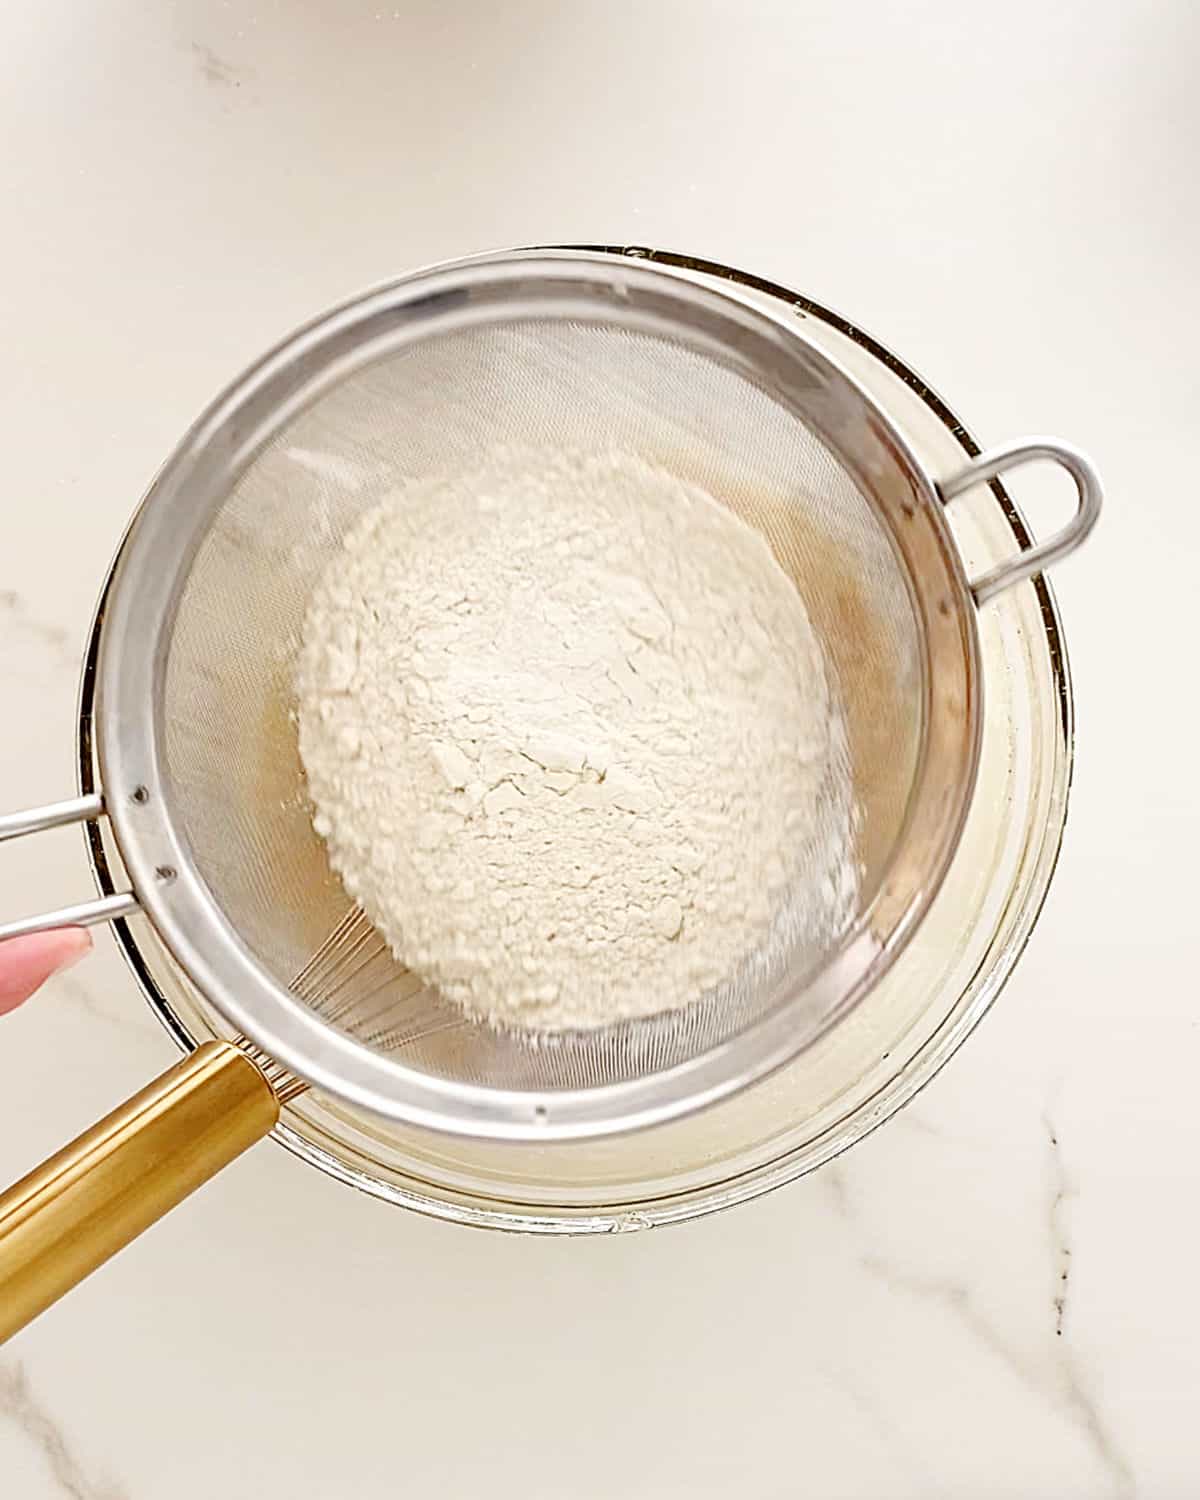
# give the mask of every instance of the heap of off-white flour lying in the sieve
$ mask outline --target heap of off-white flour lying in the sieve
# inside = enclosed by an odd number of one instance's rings
[[[620,453],[414,480],[316,586],[314,824],[396,957],[555,1030],[687,1005],[854,906],[844,730],[765,540]]]

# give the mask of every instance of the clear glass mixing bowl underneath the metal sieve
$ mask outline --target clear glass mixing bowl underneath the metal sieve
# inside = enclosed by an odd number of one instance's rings
[[[804,318],[886,406],[934,474],[978,446],[928,386],[868,334],[806,297],[728,267],[640,248],[726,291]],[[951,507],[969,574],[1029,536],[999,483]],[[111,578],[111,572],[110,572]],[[80,705],[80,774],[96,786],[93,624]],[[930,915],[885,980],[789,1066],[706,1112],[598,1142],[507,1144],[452,1138],[356,1113],[315,1092],[284,1108],[288,1149],[376,1197],[462,1224],[603,1233],[693,1218],[812,1172],[908,1102],[975,1028],[1012,970],[1053,874],[1071,780],[1071,687],[1058,610],[1034,579],[980,614],[982,759],[970,814]],[[88,825],[96,882],[123,888],[106,824]],[[174,964],[144,916],[114,924],[150,1005],[190,1048],[228,1028]]]

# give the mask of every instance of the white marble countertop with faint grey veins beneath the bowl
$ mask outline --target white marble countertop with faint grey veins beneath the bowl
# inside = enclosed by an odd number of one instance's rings
[[[609,1240],[426,1222],[264,1146],[0,1352],[0,1492],[1200,1490],[1198,46],[1188,0],[0,6],[6,806],[72,790],[94,592],[174,440],[423,261],[598,238],[754,268],[982,440],[1077,441],[1110,496],[1056,576],[1059,874],[915,1107]],[[76,831],[3,850],[4,914],[87,886]],[[106,936],[0,1032],[3,1179],[172,1056]]]

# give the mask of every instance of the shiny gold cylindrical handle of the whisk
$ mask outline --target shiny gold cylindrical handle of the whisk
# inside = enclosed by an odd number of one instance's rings
[[[267,1136],[279,1102],[210,1041],[0,1196],[0,1342]]]

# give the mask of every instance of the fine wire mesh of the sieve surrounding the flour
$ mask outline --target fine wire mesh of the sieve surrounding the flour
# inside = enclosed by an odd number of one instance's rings
[[[354,918],[298,762],[296,656],[330,555],[404,480],[476,466],[496,444],[636,453],[768,538],[842,696],[862,908],[921,758],[921,634],[872,501],[830,450],[741,374],[646,333],[546,320],[417,344],[328,390],[243,474],[192,562],[166,657],[166,772],[200,874],[267,970],[405,1066],[504,1088],[610,1083],[734,1035],[825,956],[782,920],[687,1011],[542,1044],[501,1035],[398,969]]]

